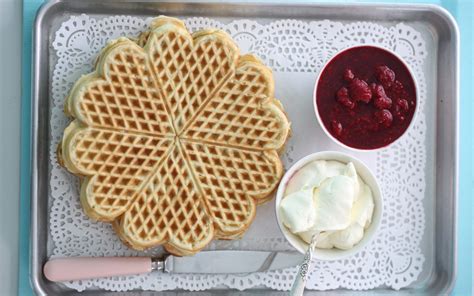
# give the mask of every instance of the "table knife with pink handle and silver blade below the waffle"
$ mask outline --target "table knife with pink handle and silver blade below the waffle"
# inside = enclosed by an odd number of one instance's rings
[[[53,282],[143,274],[151,271],[188,274],[252,273],[293,267],[302,259],[303,255],[298,252],[234,250],[204,251],[189,257],[70,257],[50,259],[44,265],[43,273]]]

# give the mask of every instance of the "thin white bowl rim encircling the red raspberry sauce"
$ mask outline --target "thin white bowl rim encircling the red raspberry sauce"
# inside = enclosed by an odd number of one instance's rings
[[[361,149],[361,148],[355,148],[355,147],[351,147],[351,146],[348,146],[346,144],[344,144],[343,142],[341,142],[340,140],[338,140],[336,137],[334,137],[326,128],[326,126],[324,125],[323,123],[323,120],[321,119],[321,116],[319,116],[319,111],[318,111],[318,104],[317,104],[317,101],[316,101],[316,98],[318,96],[318,84],[319,84],[319,79],[321,78],[321,74],[324,72],[324,69],[326,69],[326,67],[332,62],[332,60],[338,56],[340,53],[344,52],[344,51],[347,51],[347,50],[351,50],[353,48],[357,48],[357,47],[363,47],[363,46],[370,46],[370,47],[375,47],[375,48],[378,48],[378,49],[381,49],[381,50],[385,50],[389,53],[391,53],[392,55],[394,55],[403,65],[405,65],[405,67],[408,69],[408,73],[410,73],[410,76],[411,78],[413,79],[413,83],[415,84],[415,101],[416,101],[416,106],[415,106],[415,113],[413,113],[413,117],[411,119],[411,122],[410,124],[408,125],[407,129],[403,132],[403,134],[400,135],[400,137],[398,137],[395,141],[393,141],[392,143],[386,145],[386,146],[383,146],[383,147],[379,147],[379,148],[374,148],[374,149]],[[337,52],[331,59],[329,59],[326,64],[324,64],[323,68],[321,69],[321,71],[319,72],[318,74],[318,77],[316,78],[316,83],[314,84],[314,90],[313,90],[313,106],[314,106],[314,112],[316,113],[316,118],[318,119],[318,122],[319,122],[319,125],[321,126],[321,128],[323,129],[323,131],[326,133],[326,135],[331,139],[333,140],[335,143],[339,144],[340,146],[346,148],[346,149],[349,149],[349,150],[353,150],[353,151],[374,151],[374,150],[379,150],[379,149],[385,149],[385,148],[388,148],[390,146],[392,146],[394,143],[397,143],[401,138],[403,138],[407,132],[412,128],[413,126],[413,123],[415,122],[416,120],[416,116],[419,112],[419,106],[420,106],[420,97],[418,95],[418,82],[416,80],[416,76],[413,74],[413,71],[411,70],[411,67],[398,55],[396,54],[395,52],[391,51],[390,49],[387,49],[387,48],[384,48],[384,47],[381,47],[381,46],[377,46],[377,45],[372,45],[372,44],[364,44],[364,45],[356,45],[356,46],[351,46],[351,47],[348,47],[348,48],[345,48],[339,52]]]

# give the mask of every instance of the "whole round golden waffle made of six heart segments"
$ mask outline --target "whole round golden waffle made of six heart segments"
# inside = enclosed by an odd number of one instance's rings
[[[190,255],[249,227],[283,173],[289,123],[271,71],[218,30],[159,17],[119,38],[65,104],[58,149],[81,203],[128,245]]]

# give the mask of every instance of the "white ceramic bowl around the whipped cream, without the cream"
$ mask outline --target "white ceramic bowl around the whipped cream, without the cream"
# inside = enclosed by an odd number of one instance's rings
[[[359,176],[364,180],[364,182],[370,187],[372,190],[372,195],[374,198],[374,213],[372,216],[372,223],[370,226],[365,230],[364,237],[362,240],[355,245],[353,248],[349,250],[340,250],[336,248],[332,249],[316,249],[314,253],[314,257],[320,260],[337,260],[344,257],[348,257],[354,255],[355,253],[359,252],[366,246],[374,237],[375,233],[377,232],[380,226],[380,220],[382,217],[382,193],[380,191],[380,187],[378,185],[377,179],[374,177],[370,169],[365,166],[359,159],[350,156],[348,154],[336,151],[322,151],[310,154],[306,157],[303,157],[298,162],[296,162],[283,176],[280,185],[278,186],[277,194],[276,194],[276,202],[275,202],[275,211],[276,217],[278,221],[278,226],[280,227],[281,232],[288,240],[288,242],[300,253],[305,253],[308,249],[308,244],[302,240],[298,235],[291,233],[286,226],[283,225],[280,217],[280,202],[284,197],[286,186],[288,181],[293,177],[293,175],[303,166],[306,164],[315,161],[315,160],[336,160],[342,163],[351,162],[354,164],[357,173]]]

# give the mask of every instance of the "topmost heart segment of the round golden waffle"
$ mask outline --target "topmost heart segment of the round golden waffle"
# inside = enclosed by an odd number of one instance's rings
[[[145,50],[163,89],[179,134],[203,103],[235,72],[239,49],[218,30],[191,35],[176,19],[152,22]]]

